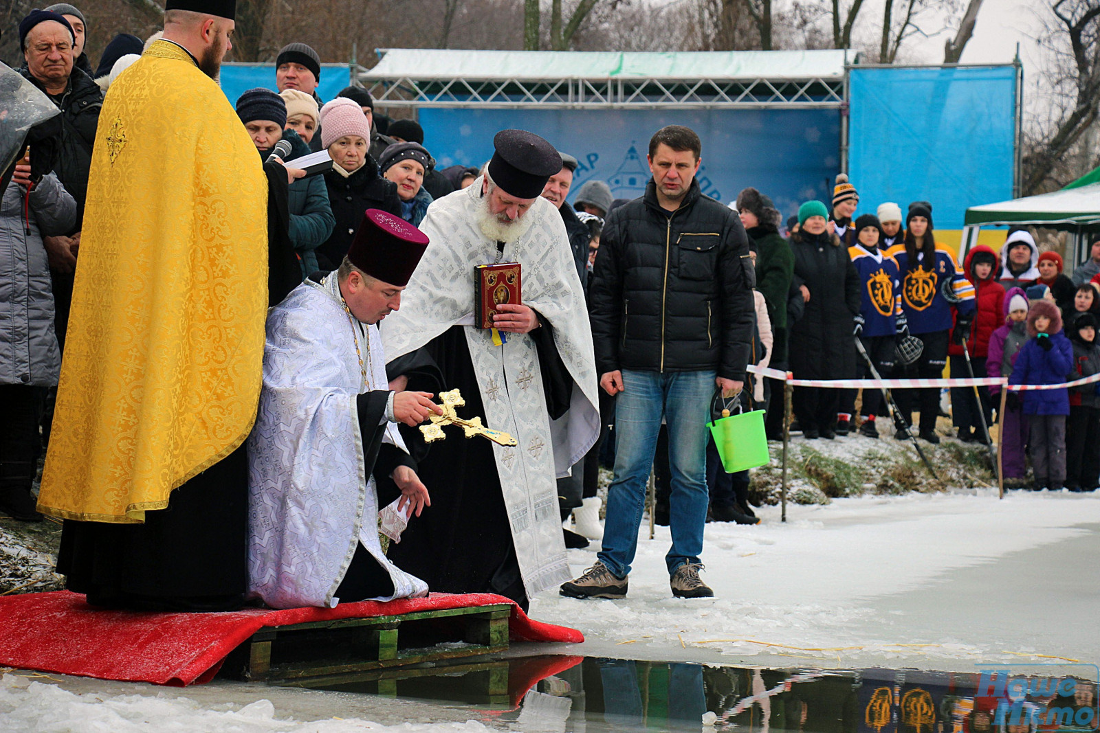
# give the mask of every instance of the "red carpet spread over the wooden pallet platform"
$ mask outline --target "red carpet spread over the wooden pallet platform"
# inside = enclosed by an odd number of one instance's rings
[[[226,655],[263,626],[394,615],[513,601],[492,593],[432,593],[334,609],[246,609],[231,613],[103,611],[68,591],[0,598],[0,665],[156,685],[209,681]],[[532,621],[515,603],[513,641],[583,642],[581,632]]]

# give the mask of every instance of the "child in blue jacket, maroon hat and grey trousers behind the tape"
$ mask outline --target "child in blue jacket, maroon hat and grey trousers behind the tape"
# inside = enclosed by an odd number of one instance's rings
[[[1060,385],[1074,367],[1074,347],[1062,331],[1062,313],[1048,300],[1027,311],[1027,335],[1009,377],[1010,385]],[[1011,392],[1009,393],[1012,395]],[[1033,489],[1060,490],[1066,481],[1066,417],[1069,392],[1062,389],[1023,392],[1027,446],[1035,474]]]

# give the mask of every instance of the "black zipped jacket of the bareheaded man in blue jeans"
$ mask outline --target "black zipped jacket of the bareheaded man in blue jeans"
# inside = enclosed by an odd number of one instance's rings
[[[666,211],[653,181],[615,209],[590,288],[596,369],[706,371],[745,379],[755,284],[740,219],[692,181]]]

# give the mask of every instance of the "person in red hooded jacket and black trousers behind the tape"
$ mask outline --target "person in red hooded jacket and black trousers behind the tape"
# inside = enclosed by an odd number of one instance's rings
[[[970,336],[966,347],[970,354],[970,366],[974,376],[986,374],[986,357],[989,355],[989,338],[1004,322],[1001,312],[1004,308],[1004,288],[997,281],[997,253],[983,244],[979,244],[966,256],[964,266],[966,278],[974,284],[976,312]],[[952,334],[952,343],[947,347],[950,356],[952,379],[963,379],[971,376],[967,370],[966,354],[963,353],[963,341],[959,334]],[[986,417],[986,425],[992,420],[992,406],[989,390],[979,387],[981,404],[974,395],[974,387],[952,387],[952,418],[958,429],[958,437],[964,443],[978,441],[988,443],[989,436],[981,429],[980,409]]]

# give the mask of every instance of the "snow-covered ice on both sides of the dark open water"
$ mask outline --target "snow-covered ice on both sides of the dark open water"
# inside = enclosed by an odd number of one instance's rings
[[[715,599],[672,599],[668,527],[653,541],[644,527],[626,599],[548,592],[531,603],[534,618],[584,631],[584,644],[519,645],[513,654],[959,671],[974,671],[976,662],[1100,660],[1100,496],[1018,491],[999,501],[980,490],[838,499],[790,506],[787,524],[778,507],[758,513],[757,526],[707,525],[704,577]],[[578,573],[594,558],[594,549],[570,554]],[[460,706],[340,692],[0,677],[0,730],[151,729],[528,730],[515,718]]]

